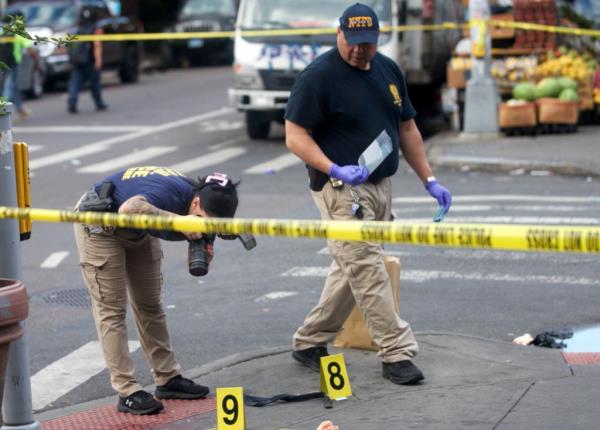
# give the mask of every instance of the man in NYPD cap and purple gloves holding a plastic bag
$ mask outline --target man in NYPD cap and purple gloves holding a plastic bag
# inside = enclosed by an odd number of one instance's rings
[[[408,98],[404,76],[377,53],[379,21],[368,6],[347,8],[337,49],[315,59],[296,80],[285,114],[286,145],[308,165],[313,199],[325,220],[391,217],[391,180],[398,149],[429,194],[447,212],[448,190],[433,177]],[[358,165],[361,153],[384,131],[392,152],[373,172]],[[360,185],[360,187],[359,187]],[[383,377],[396,384],[423,379],[411,359],[418,351],[408,323],[394,312],[383,249],[372,242],[329,242],[333,262],[319,303],[294,334],[293,357],[319,371],[356,303],[379,347]]]

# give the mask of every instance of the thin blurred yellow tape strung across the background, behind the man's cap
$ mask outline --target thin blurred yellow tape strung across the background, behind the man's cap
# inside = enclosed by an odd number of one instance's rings
[[[439,24],[421,24],[421,25],[397,25],[397,26],[382,26],[381,31],[391,32],[410,32],[410,31],[443,31],[457,30],[468,28],[471,26],[479,26],[482,20],[471,20],[469,23],[457,22],[442,22]],[[513,27],[523,30],[546,31],[551,33],[572,34],[576,36],[591,36],[600,37],[600,30],[560,27],[552,25],[534,24],[530,22],[516,22],[490,19],[489,24],[494,27]],[[277,30],[244,30],[242,36],[259,37],[259,36],[298,36],[298,35],[315,35],[315,34],[334,34],[335,28],[296,28],[296,29],[277,29]],[[198,31],[198,32],[183,32],[183,33],[138,33],[138,34],[100,34],[100,35],[74,35],[73,42],[90,42],[94,40],[104,42],[120,42],[129,40],[185,40],[185,39],[219,39],[233,38],[234,31]],[[12,37],[0,37],[2,42],[12,41]]]

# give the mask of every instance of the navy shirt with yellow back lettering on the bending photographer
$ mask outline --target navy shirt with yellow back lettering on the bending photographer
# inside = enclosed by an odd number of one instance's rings
[[[129,198],[141,195],[159,209],[187,215],[194,195],[192,181],[168,167],[131,167],[96,183],[96,192],[100,192],[103,182],[115,185],[112,198],[117,208]],[[186,240],[182,233],[175,231],[148,230],[148,233],[165,240]]]

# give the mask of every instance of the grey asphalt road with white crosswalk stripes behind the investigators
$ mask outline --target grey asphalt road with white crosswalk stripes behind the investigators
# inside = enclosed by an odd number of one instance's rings
[[[72,208],[113,170],[154,164],[241,179],[240,217],[317,218],[305,169],[287,156],[283,129],[274,127],[266,141],[248,141],[242,115],[227,108],[231,82],[229,68],[144,75],[135,85],[108,84],[109,110],[100,113],[87,93],[78,115],[66,113],[63,94],[29,102],[32,116],[14,124],[14,135],[31,146],[32,206]],[[600,203],[589,198],[597,184],[580,178],[436,175],[455,196],[448,221],[599,223]],[[393,180],[398,218],[433,216],[435,202],[406,165]],[[524,332],[598,322],[597,257],[386,248],[401,257],[401,314],[417,333],[511,341]],[[236,352],[289,344],[317,302],[330,262],[323,240],[258,237],[251,252],[238,241],[218,241],[215,250],[210,273],[194,278],[187,273],[187,245],[164,243],[164,304],[184,373]],[[97,348],[97,338],[72,226],[35,223],[22,256],[31,295],[34,408],[112,395],[99,354],[83,358]],[[135,341],[131,322],[129,329]],[[151,384],[141,350],[135,342],[132,348],[140,382]]]

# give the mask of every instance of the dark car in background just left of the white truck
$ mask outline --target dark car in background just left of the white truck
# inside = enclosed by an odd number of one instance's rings
[[[233,31],[238,0],[184,0],[174,25],[165,32]],[[167,40],[162,44],[166,67],[191,63],[231,64],[233,37]]]

